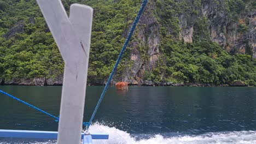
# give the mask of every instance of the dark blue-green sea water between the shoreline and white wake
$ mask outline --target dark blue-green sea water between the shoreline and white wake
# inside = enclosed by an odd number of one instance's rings
[[[59,115],[61,87],[0,86],[0,89]],[[89,120],[102,89],[87,87],[84,122]],[[3,94],[0,99],[0,129],[57,130],[53,118]],[[114,127],[137,140],[151,139],[156,134],[167,140],[177,135],[218,135],[230,131],[254,136],[256,88],[129,87],[127,92],[118,92],[110,87],[96,113],[96,121],[98,127]],[[252,141],[256,143],[256,138]]]

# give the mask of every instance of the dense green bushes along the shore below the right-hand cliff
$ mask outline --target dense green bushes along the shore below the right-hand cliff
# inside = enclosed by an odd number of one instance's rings
[[[180,44],[170,39],[161,43],[163,57],[145,78],[155,82],[192,82],[220,85],[237,80],[255,85],[255,60],[250,55],[229,55],[207,40]],[[165,79],[162,79],[164,74]]]

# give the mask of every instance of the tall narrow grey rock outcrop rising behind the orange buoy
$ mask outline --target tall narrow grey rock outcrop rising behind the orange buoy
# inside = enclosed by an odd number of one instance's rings
[[[143,85],[144,81],[142,77],[144,71],[154,69],[155,62],[160,55],[160,26],[156,17],[153,15],[154,8],[155,4],[149,3],[137,26],[137,39],[130,43],[130,47],[133,47],[131,51],[133,65],[130,73],[127,74],[125,72],[125,79],[123,81],[128,81],[132,85]],[[145,61],[145,59],[148,59],[148,61]],[[125,71],[129,70],[126,69]]]

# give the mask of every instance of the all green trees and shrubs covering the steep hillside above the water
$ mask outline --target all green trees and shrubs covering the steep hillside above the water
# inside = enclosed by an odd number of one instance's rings
[[[113,68],[141,1],[62,2],[67,13],[72,3],[87,4],[94,8],[88,82],[103,83]],[[237,16],[245,8],[246,2],[228,0],[226,3],[229,13]],[[237,52],[228,53],[219,44],[211,42],[207,17],[195,19],[193,43],[184,43],[183,39],[179,39],[181,28],[177,14],[185,15],[187,10],[191,12],[191,16],[198,15],[201,1],[193,1],[193,5],[190,7],[185,0],[179,3],[173,0],[150,1],[149,7],[156,8],[153,15],[159,24],[159,53],[155,67],[144,69],[140,78],[152,82],[220,85],[242,81],[247,85],[256,85],[256,61],[252,58],[250,47],[247,45],[248,55],[242,55]],[[146,11],[145,14],[149,12]],[[8,32],[11,27],[13,33]],[[238,27],[240,33],[247,29],[244,24]],[[0,79],[54,79],[62,75],[61,55],[36,1],[0,0],[0,35]],[[143,41],[138,35],[137,29],[116,72],[117,81],[120,77],[127,76],[125,71],[132,71],[132,50],[138,50],[143,62],[150,59],[149,45],[136,45]],[[148,35],[145,35],[145,39],[147,41]]]

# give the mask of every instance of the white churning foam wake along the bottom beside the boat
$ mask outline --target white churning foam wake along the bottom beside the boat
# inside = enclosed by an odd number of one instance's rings
[[[93,140],[94,144],[227,144],[227,143],[241,143],[241,144],[251,144],[256,143],[256,131],[227,131],[219,133],[207,133],[203,135],[192,135],[192,136],[170,136],[164,137],[162,135],[154,135],[149,139],[136,140],[126,131],[119,130],[115,127],[107,127],[102,124],[93,124],[90,127],[90,133],[107,133],[109,134],[108,140]],[[2,139],[4,140],[4,139]],[[44,142],[29,142],[29,141],[2,141],[1,144],[18,144],[18,143],[31,143],[31,144],[46,144],[46,143],[56,143],[56,141],[44,141]]]

